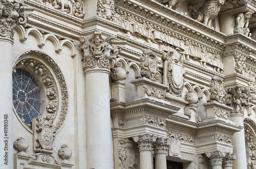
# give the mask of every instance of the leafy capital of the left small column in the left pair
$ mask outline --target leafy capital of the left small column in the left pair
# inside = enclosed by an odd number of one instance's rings
[[[134,142],[136,142],[139,146],[139,151],[141,150],[153,150],[153,143],[156,142],[157,137],[150,134],[139,135],[134,137]]]

